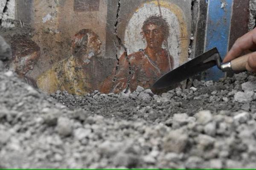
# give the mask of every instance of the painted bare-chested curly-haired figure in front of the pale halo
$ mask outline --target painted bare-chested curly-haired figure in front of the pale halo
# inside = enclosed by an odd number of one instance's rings
[[[158,78],[172,70],[174,60],[168,51],[162,48],[164,40],[169,36],[169,25],[166,20],[161,16],[148,17],[143,23],[141,34],[147,42],[146,48],[128,56],[122,54],[119,58],[119,70],[113,77],[116,80],[114,85],[111,87],[111,79],[108,79],[109,83],[105,81],[102,92],[107,93],[111,88],[115,93],[127,88],[134,91],[138,85],[151,88]]]

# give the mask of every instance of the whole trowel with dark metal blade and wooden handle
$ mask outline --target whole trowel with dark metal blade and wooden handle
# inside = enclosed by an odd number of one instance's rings
[[[233,71],[236,73],[245,71],[246,63],[248,60],[248,55],[233,59],[231,62],[221,63],[222,59],[218,53],[217,48],[212,48],[211,50],[201,54],[198,57],[186,62],[178,68],[166,73],[160,79],[158,79],[153,88],[162,89],[168,88],[175,85],[177,82],[181,82],[195,74],[205,71],[215,65],[224,72]]]

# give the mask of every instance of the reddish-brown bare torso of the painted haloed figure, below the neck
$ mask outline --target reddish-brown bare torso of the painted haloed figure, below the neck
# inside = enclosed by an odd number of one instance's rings
[[[172,66],[172,56],[170,56],[170,63]],[[123,54],[119,59],[119,70],[116,74],[113,91],[118,93],[126,89],[129,77],[131,91],[135,91],[138,85],[143,88],[151,88],[158,78],[170,70],[168,53],[164,49],[157,54],[156,60],[152,60],[144,50],[130,54],[128,57]],[[129,71],[131,71],[130,74]]]

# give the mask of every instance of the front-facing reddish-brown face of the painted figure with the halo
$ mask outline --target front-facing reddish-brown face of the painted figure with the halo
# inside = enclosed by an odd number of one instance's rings
[[[149,48],[161,48],[164,40],[162,29],[154,24],[148,24],[144,30],[144,37],[146,38]]]

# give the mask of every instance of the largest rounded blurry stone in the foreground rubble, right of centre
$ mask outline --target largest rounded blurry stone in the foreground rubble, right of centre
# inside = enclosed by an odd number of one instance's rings
[[[182,153],[188,143],[188,135],[183,130],[172,130],[163,139],[163,149],[165,152]]]

